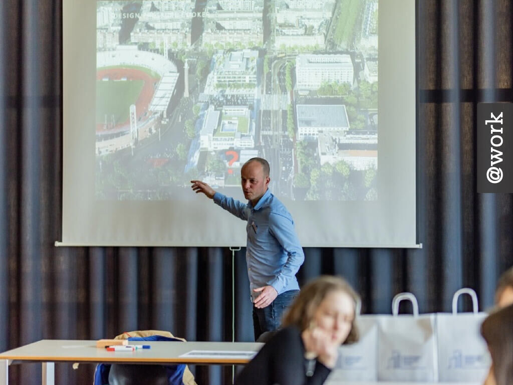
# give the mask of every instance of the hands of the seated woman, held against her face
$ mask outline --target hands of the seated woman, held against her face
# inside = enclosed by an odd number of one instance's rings
[[[332,369],[337,363],[338,343],[333,342],[331,335],[317,327],[309,328],[301,333],[307,358],[315,358]],[[310,356],[310,357],[308,357]]]

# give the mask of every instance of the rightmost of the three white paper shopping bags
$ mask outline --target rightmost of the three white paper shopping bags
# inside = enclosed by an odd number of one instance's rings
[[[458,298],[472,298],[472,313],[458,313]],[[486,313],[478,313],[478,297],[471,288],[462,288],[452,297],[452,313],[437,314],[438,367],[440,381],[482,383],[490,367],[481,323]]]

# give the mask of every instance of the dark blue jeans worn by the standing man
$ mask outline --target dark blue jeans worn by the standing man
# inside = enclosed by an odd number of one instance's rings
[[[285,310],[290,306],[299,290],[289,290],[284,292],[263,309],[257,309],[253,306],[253,330],[255,341],[262,333],[277,330],[282,323],[282,316]]]

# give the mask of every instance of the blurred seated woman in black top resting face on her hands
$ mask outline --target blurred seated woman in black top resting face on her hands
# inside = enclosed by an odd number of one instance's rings
[[[283,329],[244,367],[235,384],[322,384],[337,362],[338,347],[358,339],[357,301],[340,277],[309,282],[290,306]]]

